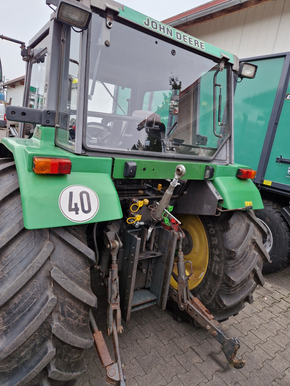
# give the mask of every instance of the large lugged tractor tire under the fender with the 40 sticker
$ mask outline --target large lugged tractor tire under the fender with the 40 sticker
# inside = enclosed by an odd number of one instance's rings
[[[0,159],[0,249],[0,385],[75,384],[93,346],[94,252],[82,225],[24,228],[15,162],[7,158]]]

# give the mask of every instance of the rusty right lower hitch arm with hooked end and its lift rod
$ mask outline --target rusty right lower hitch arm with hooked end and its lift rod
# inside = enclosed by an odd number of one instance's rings
[[[207,330],[218,342],[222,345],[223,353],[225,354],[229,364],[236,369],[241,369],[245,365],[242,359],[236,359],[237,350],[240,348],[240,341],[237,338],[228,338],[220,330],[220,323],[215,320],[210,311],[189,292],[188,279],[191,273],[186,275],[185,263],[182,247],[182,234],[179,234],[178,252],[177,252],[177,276],[172,271],[172,276],[177,281],[177,290],[172,286],[169,288],[169,296],[178,303],[181,311],[186,311],[198,324]]]

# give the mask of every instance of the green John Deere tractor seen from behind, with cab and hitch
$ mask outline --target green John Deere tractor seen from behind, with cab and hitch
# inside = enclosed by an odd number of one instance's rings
[[[269,260],[254,171],[234,164],[234,76],[256,67],[111,0],[46,2],[22,47],[23,107],[6,111],[20,134],[0,144],[0,385],[74,384],[94,342],[124,385],[122,323],[167,301],[241,368],[219,321]]]

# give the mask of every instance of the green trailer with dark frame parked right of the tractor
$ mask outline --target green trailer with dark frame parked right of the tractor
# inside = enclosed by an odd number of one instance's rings
[[[242,59],[258,65],[252,81],[235,86],[235,162],[257,171],[253,180],[264,209],[256,216],[267,228],[263,243],[271,262],[264,273],[277,272],[290,261],[290,53]]]

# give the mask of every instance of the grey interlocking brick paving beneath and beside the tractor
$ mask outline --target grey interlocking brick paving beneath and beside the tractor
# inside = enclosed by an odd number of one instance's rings
[[[254,302],[222,323],[229,337],[241,340],[238,354],[246,360],[243,369],[229,366],[218,342],[205,330],[177,322],[171,311],[154,306],[134,313],[123,323],[119,337],[126,385],[289,386],[290,385],[290,268],[266,277]],[[104,288],[97,287],[97,323],[113,357],[106,336]],[[96,349],[87,350],[87,371],[77,386],[106,385]]]

